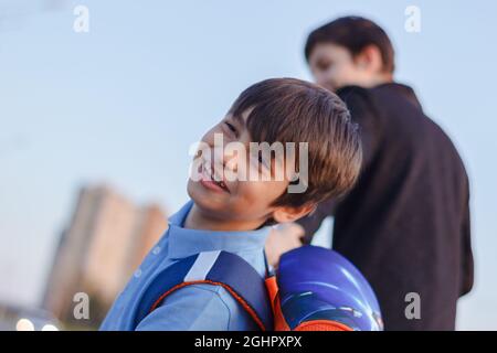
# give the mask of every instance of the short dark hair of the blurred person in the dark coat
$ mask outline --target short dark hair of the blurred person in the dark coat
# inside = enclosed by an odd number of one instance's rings
[[[383,72],[393,73],[394,52],[389,36],[381,26],[361,17],[345,17],[331,21],[316,30],[307,38],[306,60],[318,43],[335,43],[345,46],[352,56],[360,54],[368,45],[376,45],[381,53]]]

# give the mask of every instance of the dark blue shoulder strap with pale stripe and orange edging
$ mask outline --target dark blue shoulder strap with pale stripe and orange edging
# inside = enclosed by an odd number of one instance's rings
[[[273,330],[273,313],[264,278],[243,258],[228,252],[189,256],[159,272],[140,298],[135,312],[135,328],[167,296],[197,284],[222,286],[261,330]]]

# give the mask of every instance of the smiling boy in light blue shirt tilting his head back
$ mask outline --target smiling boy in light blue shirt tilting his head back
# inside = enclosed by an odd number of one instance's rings
[[[219,136],[246,147],[246,156],[220,151]],[[254,142],[306,143],[307,153],[296,149],[283,159],[251,156],[248,147]],[[117,298],[101,330],[257,330],[232,293],[210,284],[182,287],[140,322],[134,318],[157,274],[199,253],[235,254],[264,277],[268,225],[296,221],[321,200],[346,193],[356,182],[362,158],[357,127],[345,104],[327,89],[293,78],[267,79],[245,89],[205,133],[202,146],[188,182],[191,201],[169,220],[168,231]],[[288,192],[302,182],[296,176],[303,175],[286,172],[293,170],[288,167],[302,165],[300,158],[307,167],[305,191]],[[248,171],[257,178],[225,174]]]

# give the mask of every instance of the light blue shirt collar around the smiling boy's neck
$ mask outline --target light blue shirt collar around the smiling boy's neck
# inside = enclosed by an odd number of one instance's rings
[[[263,250],[271,227],[246,232],[219,232],[183,228],[184,220],[193,202],[190,200],[169,218],[169,250],[172,259],[184,258],[202,252],[230,253]]]

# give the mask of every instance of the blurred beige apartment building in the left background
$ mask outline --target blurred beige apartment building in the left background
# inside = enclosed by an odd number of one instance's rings
[[[61,235],[43,307],[72,322],[74,295],[85,292],[87,324],[98,324],[166,228],[167,217],[158,205],[136,205],[107,186],[83,188]]]

